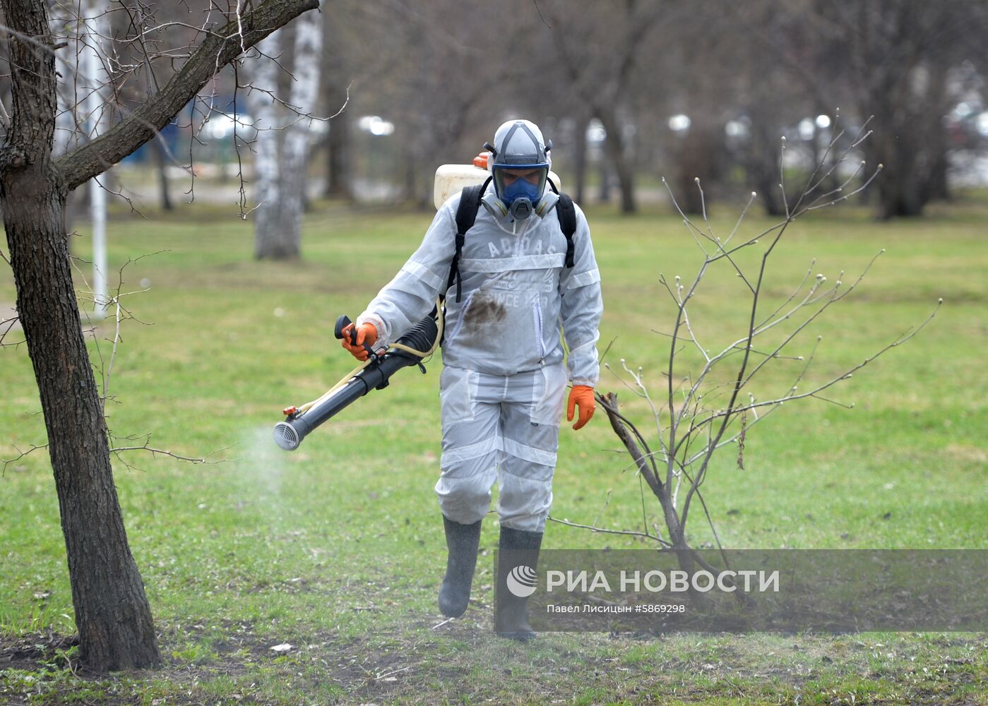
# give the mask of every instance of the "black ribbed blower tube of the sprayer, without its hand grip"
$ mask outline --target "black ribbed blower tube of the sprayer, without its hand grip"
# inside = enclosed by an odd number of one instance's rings
[[[427,316],[398,339],[397,343],[415,351],[428,351],[432,348],[438,335],[436,320],[432,316]],[[350,378],[329,398],[313,404],[305,412],[291,411],[284,422],[275,425],[275,443],[286,451],[295,450],[310,431],[371,390],[381,390],[387,387],[388,378],[396,370],[408,365],[419,364],[421,360],[419,356],[406,351],[395,350],[384,353]]]

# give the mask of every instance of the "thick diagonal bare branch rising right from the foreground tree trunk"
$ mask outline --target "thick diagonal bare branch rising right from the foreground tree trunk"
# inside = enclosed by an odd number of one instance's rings
[[[207,35],[157,95],[93,141],[55,162],[68,188],[84,184],[124,159],[167,125],[220,67],[301,13],[318,6],[318,0],[268,0]]]

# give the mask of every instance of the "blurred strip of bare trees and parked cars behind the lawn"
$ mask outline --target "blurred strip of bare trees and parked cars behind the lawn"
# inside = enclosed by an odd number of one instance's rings
[[[147,4],[114,4],[129,8],[108,16],[108,33],[126,39],[112,63],[125,66]],[[208,8],[188,0],[158,16],[194,25]],[[258,222],[259,257],[294,257],[296,219],[255,208],[266,195],[279,194],[278,207],[282,196],[426,206],[436,167],[468,162],[501,121],[524,116],[552,138],[554,167],[580,201],[631,213],[668,202],[665,178],[697,211],[700,177],[708,201],[754,190],[779,213],[780,138],[795,184],[834,134],[837,109],[837,129],[852,133],[873,116],[875,137],[854,157],[885,165],[868,192],[876,217],[920,215],[959,187],[988,184],[986,0],[338,0],[320,19],[315,52],[291,28],[276,51],[221,72],[131,158],[157,165],[158,187],[124,179],[124,193],[160,194],[167,207],[171,181],[172,192],[241,200]],[[140,86],[120,72],[105,119],[121,119],[171,70],[159,60]],[[297,120],[279,107],[304,96],[299,79],[312,75],[314,104],[293,107],[339,116]],[[9,103],[3,78],[0,95]],[[294,121],[262,136],[272,120]],[[272,152],[286,142],[291,159]],[[264,245],[272,229],[288,246]]]

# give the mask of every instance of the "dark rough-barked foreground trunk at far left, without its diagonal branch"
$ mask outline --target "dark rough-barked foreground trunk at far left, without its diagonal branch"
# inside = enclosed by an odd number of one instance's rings
[[[6,6],[7,22],[52,44],[43,0]],[[83,664],[98,671],[160,662],[151,610],[127,546],[109,439],[62,228],[65,181],[52,167],[53,54],[10,40],[13,122],[0,152],[17,309],[38,380]]]

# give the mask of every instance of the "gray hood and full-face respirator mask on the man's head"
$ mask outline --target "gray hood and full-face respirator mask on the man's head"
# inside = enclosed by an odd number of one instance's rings
[[[519,119],[503,123],[494,133],[494,144],[486,142],[484,147],[491,153],[487,165],[494,178],[494,192],[516,219],[528,218],[545,192],[552,141],[545,142],[535,122]],[[506,184],[505,170],[537,170],[535,182]]]

